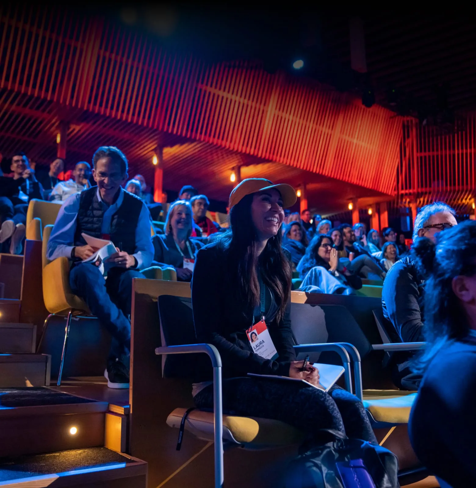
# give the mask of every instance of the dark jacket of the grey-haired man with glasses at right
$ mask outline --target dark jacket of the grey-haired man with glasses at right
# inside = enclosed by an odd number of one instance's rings
[[[392,322],[402,342],[424,342],[423,280],[410,257],[397,261],[382,289],[383,315]]]

